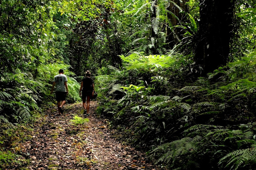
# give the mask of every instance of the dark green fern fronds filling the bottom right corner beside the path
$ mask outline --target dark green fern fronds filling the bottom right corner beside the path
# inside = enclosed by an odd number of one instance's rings
[[[253,169],[255,139],[252,132],[195,125],[188,137],[165,143],[150,152],[170,169]]]

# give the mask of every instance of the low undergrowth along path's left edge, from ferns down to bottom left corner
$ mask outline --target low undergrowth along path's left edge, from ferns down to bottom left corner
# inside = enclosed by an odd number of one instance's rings
[[[79,101],[79,83],[68,71],[68,65],[55,63],[37,67],[37,77],[21,72],[3,74],[0,88],[0,164],[8,166],[23,164],[19,143],[29,140],[28,129],[33,129],[33,122],[44,115],[44,109],[55,103],[55,95],[50,95],[54,75],[59,69],[65,69],[68,77],[68,103]],[[30,127],[31,126],[31,127]],[[27,132],[25,134],[25,132]],[[23,156],[23,155],[22,155]],[[0,166],[0,169],[1,169]]]

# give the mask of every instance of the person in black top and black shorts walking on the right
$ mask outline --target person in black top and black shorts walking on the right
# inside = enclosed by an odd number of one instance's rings
[[[94,95],[94,83],[91,78],[91,73],[89,70],[85,72],[85,78],[81,82],[81,87],[79,91],[80,96],[81,96],[81,91],[82,91],[84,113],[86,110],[86,114],[87,116],[89,116],[90,98],[93,97]]]

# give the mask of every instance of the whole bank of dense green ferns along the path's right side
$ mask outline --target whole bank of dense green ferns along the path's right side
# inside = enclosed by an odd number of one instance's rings
[[[170,169],[254,169],[250,55],[198,79],[185,56],[122,56],[122,68],[99,71],[98,113]]]

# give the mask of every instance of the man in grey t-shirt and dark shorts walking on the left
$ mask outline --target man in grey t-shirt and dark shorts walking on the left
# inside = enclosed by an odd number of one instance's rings
[[[52,90],[53,92],[54,86],[56,86],[55,94],[56,100],[58,102],[58,112],[59,115],[63,113],[62,106],[66,103],[66,96],[68,95],[68,79],[67,76],[63,74],[64,71],[62,69],[59,70],[59,74],[55,75],[52,83]],[[65,89],[66,88],[66,89]]]

